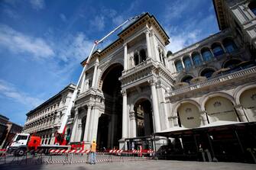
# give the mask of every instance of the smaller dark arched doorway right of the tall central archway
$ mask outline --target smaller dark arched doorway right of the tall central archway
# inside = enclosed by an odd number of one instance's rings
[[[137,136],[150,136],[154,132],[151,102],[141,99],[134,104]]]

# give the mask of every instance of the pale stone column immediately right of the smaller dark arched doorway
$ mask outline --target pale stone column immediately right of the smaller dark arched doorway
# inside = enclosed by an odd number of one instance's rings
[[[154,127],[155,132],[160,132],[160,117],[159,117],[159,107],[158,107],[158,100],[157,100],[157,90],[156,90],[156,83],[151,80],[149,81],[151,84],[151,95],[152,95],[152,101],[153,101],[153,113],[154,113]]]

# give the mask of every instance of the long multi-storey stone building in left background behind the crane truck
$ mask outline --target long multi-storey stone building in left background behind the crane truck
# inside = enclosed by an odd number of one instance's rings
[[[36,133],[37,136],[41,136],[42,144],[53,144],[54,133],[60,127],[63,114],[65,114],[75,88],[76,85],[67,85],[57,95],[29,111],[27,121],[24,123],[23,133]],[[69,118],[66,136],[70,136],[70,125],[72,123],[73,119]]]

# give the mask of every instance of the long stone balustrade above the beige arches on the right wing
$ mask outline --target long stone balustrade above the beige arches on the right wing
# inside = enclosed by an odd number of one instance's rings
[[[243,69],[238,72],[230,72],[229,74],[222,75],[222,76],[219,76],[214,79],[209,79],[206,82],[199,82],[195,85],[189,85],[184,88],[179,88],[177,90],[170,91],[170,93],[168,93],[167,97],[173,97],[175,95],[180,95],[180,94],[186,93],[188,91],[193,91],[193,90],[196,90],[199,88],[204,88],[206,86],[217,85],[220,82],[225,82],[225,81],[229,81],[232,79],[239,79],[239,78],[242,78],[242,77],[254,74],[254,73],[256,73],[256,66],[250,67],[248,69]]]

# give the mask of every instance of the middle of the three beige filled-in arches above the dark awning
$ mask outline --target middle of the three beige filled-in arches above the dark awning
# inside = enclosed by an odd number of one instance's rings
[[[206,101],[205,107],[210,123],[217,120],[238,121],[232,101],[227,98],[223,98],[222,96],[209,98]]]

